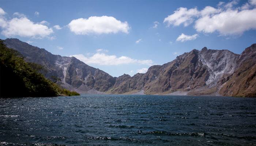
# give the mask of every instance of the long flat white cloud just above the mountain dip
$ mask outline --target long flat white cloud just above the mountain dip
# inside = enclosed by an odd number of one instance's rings
[[[127,56],[117,57],[116,55],[107,55],[105,53],[95,53],[90,57],[86,57],[83,54],[71,55],[70,57],[76,57],[80,61],[83,61],[86,64],[97,64],[97,65],[122,65],[122,64],[142,64],[149,65],[153,64],[153,61],[133,59]]]

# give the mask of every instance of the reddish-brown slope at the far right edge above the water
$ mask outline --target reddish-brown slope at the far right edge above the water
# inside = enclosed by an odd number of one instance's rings
[[[256,44],[246,48],[236,61],[236,69],[219,81],[224,96],[256,97]]]

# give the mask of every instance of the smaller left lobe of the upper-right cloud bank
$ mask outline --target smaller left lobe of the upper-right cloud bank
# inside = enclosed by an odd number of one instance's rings
[[[163,22],[167,23],[167,26],[179,26],[180,24],[188,26],[193,22],[194,17],[199,15],[199,13],[200,12],[197,11],[197,8],[187,9],[180,7],[174,11],[174,14],[167,16]]]

